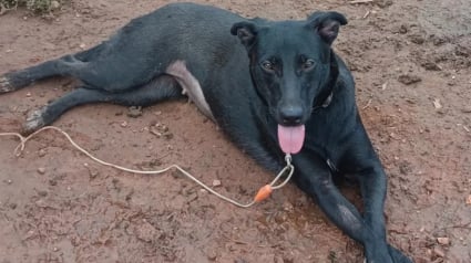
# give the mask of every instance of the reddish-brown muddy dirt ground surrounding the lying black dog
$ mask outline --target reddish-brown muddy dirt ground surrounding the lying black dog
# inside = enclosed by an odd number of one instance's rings
[[[71,0],[53,19],[0,17],[0,73],[106,39],[167,1]],[[335,49],[352,70],[364,122],[389,175],[390,242],[414,262],[471,262],[471,4],[468,0],[199,1],[249,17],[344,12]],[[51,80],[0,96],[0,132],[73,88]],[[139,114],[137,114],[139,115]],[[166,126],[164,136],[156,125]],[[75,108],[54,125],[93,155],[136,169],[178,164],[248,201],[274,175],[184,101],[131,116]],[[60,135],[0,137],[0,262],[361,262],[361,248],[294,186],[249,209],[177,172],[139,176],[98,165]],[[358,202],[358,191],[347,190]]]

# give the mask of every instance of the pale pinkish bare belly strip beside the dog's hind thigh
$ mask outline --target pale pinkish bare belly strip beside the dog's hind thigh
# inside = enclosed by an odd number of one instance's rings
[[[213,113],[211,112],[209,105],[204,97],[203,90],[199,82],[193,74],[186,69],[185,62],[177,60],[168,65],[165,73],[175,77],[178,84],[183,88],[183,94],[198,107],[198,109],[206,115],[208,118],[214,120]]]

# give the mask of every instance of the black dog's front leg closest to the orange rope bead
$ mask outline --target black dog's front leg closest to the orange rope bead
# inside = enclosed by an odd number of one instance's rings
[[[378,235],[358,209],[340,193],[327,162],[318,155],[306,152],[294,156],[293,161],[298,187],[318,202],[339,229],[365,246],[367,261],[392,263],[385,234]]]

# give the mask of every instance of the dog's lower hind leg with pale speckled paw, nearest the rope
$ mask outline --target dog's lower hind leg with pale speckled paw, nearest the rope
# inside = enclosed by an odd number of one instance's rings
[[[23,133],[28,134],[50,125],[68,109],[84,104],[114,103],[125,106],[150,106],[160,101],[181,96],[183,96],[181,86],[170,75],[161,75],[141,87],[120,93],[82,86],[29,114]]]

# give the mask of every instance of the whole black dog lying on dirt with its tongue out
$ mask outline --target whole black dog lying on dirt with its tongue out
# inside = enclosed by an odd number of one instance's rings
[[[268,169],[281,168],[285,152],[294,154],[296,183],[364,245],[368,262],[410,262],[387,243],[386,175],[361,124],[352,76],[331,49],[346,23],[337,12],[273,22],[168,4],[95,48],[4,74],[0,92],[58,75],[82,81],[30,114],[27,132],[78,105],[146,106],[186,94]],[[359,182],[362,214],[332,182],[345,173]]]

